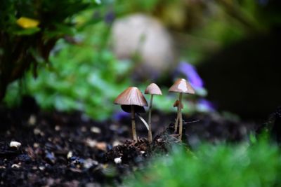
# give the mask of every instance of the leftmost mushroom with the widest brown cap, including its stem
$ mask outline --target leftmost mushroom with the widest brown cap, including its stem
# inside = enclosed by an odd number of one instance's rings
[[[133,140],[137,141],[135,113],[145,111],[143,106],[148,106],[145,97],[138,88],[129,87],[118,95],[114,103],[120,104],[124,111],[131,113]]]

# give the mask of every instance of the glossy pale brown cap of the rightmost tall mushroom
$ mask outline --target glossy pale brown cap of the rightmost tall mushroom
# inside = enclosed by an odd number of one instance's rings
[[[174,85],[169,88],[169,92],[195,94],[195,90],[192,88],[190,83],[188,83],[188,81],[186,81],[184,78],[179,78],[178,80],[176,80]]]

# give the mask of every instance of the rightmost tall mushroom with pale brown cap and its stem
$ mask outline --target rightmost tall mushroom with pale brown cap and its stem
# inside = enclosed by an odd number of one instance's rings
[[[183,97],[183,93],[188,93],[188,94],[195,94],[195,90],[192,88],[190,83],[186,81],[183,78],[179,78],[174,85],[169,88],[169,92],[178,92],[179,94],[179,103],[181,103],[181,99]],[[183,134],[183,117],[181,115],[181,107],[178,107],[178,116],[177,118],[180,120],[180,127],[179,127],[179,139],[181,139],[182,134]]]

